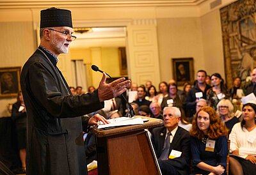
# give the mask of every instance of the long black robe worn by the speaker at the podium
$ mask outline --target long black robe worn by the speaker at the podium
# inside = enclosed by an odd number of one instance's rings
[[[27,110],[27,169],[32,174],[87,174],[84,114],[104,107],[98,91],[73,96],[56,59],[39,47],[22,68],[20,85]],[[83,124],[83,125],[82,125]]]

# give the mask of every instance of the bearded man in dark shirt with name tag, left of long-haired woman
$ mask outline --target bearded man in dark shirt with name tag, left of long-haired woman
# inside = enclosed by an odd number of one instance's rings
[[[207,73],[205,70],[198,70],[196,73],[196,83],[194,88],[191,88],[188,92],[187,101],[186,101],[186,115],[191,117],[196,113],[196,103],[200,98],[206,99],[206,92],[211,88],[205,82]],[[202,96],[201,96],[202,95]]]

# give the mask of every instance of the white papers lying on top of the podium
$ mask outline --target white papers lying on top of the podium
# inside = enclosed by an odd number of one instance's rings
[[[141,125],[143,124],[143,119],[142,118],[115,118],[115,119],[108,119],[110,122],[109,124],[103,124],[100,122],[98,126],[98,130],[104,130],[104,129],[109,129],[109,128],[116,128],[120,126],[128,126],[128,125]]]

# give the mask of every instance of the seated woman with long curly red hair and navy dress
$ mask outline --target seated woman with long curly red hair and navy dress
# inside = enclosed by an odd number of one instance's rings
[[[226,174],[227,134],[212,107],[202,107],[196,113],[190,130],[193,174]]]

